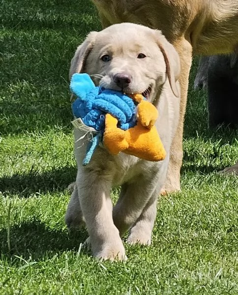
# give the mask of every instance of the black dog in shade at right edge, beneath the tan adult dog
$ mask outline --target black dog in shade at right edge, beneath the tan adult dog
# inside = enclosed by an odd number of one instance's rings
[[[238,125],[238,55],[202,57],[194,88],[208,88],[208,125]]]

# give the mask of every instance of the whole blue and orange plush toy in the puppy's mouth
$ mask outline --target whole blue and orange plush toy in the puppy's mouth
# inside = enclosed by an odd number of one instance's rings
[[[111,154],[124,153],[148,161],[160,161],[165,149],[154,123],[157,109],[141,94],[131,97],[111,89],[95,87],[88,74],[73,74],[70,89],[76,127],[92,134],[83,165],[90,161],[100,142]],[[74,123],[75,121],[73,121]]]

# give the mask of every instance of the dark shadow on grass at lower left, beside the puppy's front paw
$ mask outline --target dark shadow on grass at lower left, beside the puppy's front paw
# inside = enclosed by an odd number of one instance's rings
[[[33,260],[41,260],[46,255],[53,257],[59,251],[78,251],[80,243],[83,243],[87,236],[84,229],[68,233],[66,229],[53,230],[44,223],[33,220],[10,228],[10,252],[7,247],[7,230],[1,231],[0,254],[9,260],[15,255],[23,259],[31,257]]]

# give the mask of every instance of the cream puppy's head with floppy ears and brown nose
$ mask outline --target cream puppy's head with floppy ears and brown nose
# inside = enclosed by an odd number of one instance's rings
[[[179,96],[179,55],[160,31],[141,25],[122,23],[89,33],[71,61],[70,77],[75,72],[88,73],[102,88],[142,93],[149,101],[168,77]]]

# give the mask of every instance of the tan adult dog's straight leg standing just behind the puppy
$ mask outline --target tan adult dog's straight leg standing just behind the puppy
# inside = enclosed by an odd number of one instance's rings
[[[170,149],[170,162],[167,173],[167,178],[164,184],[164,188],[161,191],[173,192],[180,190],[180,168],[182,165],[182,136],[183,136],[183,121],[186,111],[187,103],[187,90],[188,90],[188,77],[192,64],[192,46],[185,39],[179,40],[174,43],[176,50],[179,53],[181,62],[181,74],[179,78],[181,88],[181,101],[180,101],[180,114],[179,124],[173,143]]]

